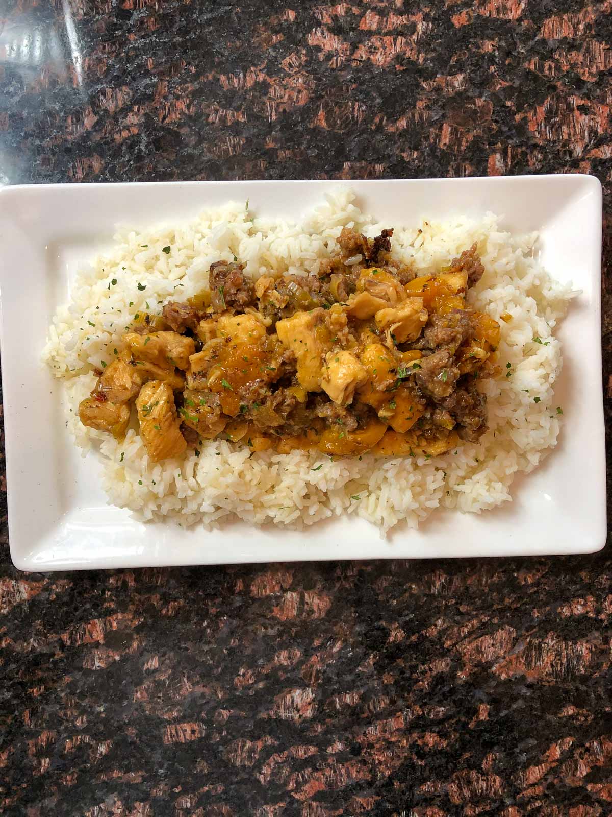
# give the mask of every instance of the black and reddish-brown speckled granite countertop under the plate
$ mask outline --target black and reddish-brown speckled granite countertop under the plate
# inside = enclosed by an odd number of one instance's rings
[[[0,181],[588,172],[607,271],[610,44],[610,0],[5,0]],[[0,488],[0,813],[612,814],[608,551],[21,574]]]

